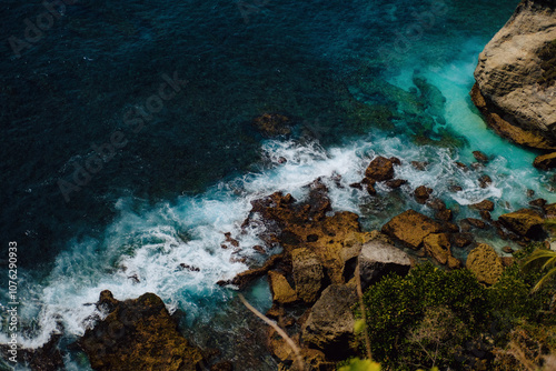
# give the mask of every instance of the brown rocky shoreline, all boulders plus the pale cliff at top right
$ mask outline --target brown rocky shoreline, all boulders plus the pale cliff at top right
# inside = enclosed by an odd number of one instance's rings
[[[544,170],[556,168],[555,58],[556,4],[523,0],[480,54],[470,92],[473,102],[499,136],[546,152],[534,163]],[[289,124],[289,119],[280,114],[255,120],[266,137],[288,134]],[[456,166],[467,171],[488,162],[479,151],[474,157],[476,162]],[[371,198],[380,198],[384,187],[396,190],[404,186],[406,190],[407,180],[396,172],[403,161],[426,171],[426,163],[376,156],[363,179],[349,187]],[[334,177],[327,181],[338,180]],[[358,214],[332,211],[324,180],[306,184],[308,195],[300,201],[281,192],[252,201],[241,228],[259,231],[264,245],[250,248],[266,259],[231,280],[218,282],[241,291],[266,278],[272,297],[266,315],[287,331],[300,349],[307,370],[336,370],[338,362],[360,354],[361,338],[356,333],[354,314],[358,287],[367,290],[385,277],[405,277],[426,261],[447,271],[468,270],[481,284],[494,285],[506,269],[514,267],[510,254],[516,251],[507,245],[499,253],[476,231],[490,230],[502,240],[525,248],[532,242],[548,243],[544,225],[556,217],[556,203],[532,199],[530,208],[494,220],[492,212],[497,205],[485,199],[468,207],[478,218],[457,220],[459,212],[423,184],[409,195],[427,207],[428,215],[407,209],[380,230],[364,231]],[[478,183],[486,188],[492,180],[485,174]],[[457,186],[451,189],[459,190]],[[237,237],[225,233],[222,248],[238,245]],[[281,252],[270,254],[277,247]],[[186,339],[178,319],[153,293],[119,301],[110,291],[102,291],[96,305],[102,317],[96,318],[93,327],[72,345],[87,354],[95,370],[241,370],[240,364],[215,358],[218,350],[200,349]],[[286,340],[272,329],[258,331],[265,333],[278,370],[290,369],[295,353]],[[33,370],[61,369],[63,354],[58,342],[59,335],[53,335],[40,349],[22,350],[26,363]]]

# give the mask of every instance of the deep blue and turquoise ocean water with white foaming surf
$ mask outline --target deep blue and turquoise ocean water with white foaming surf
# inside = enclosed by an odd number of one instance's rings
[[[257,231],[240,228],[250,201],[302,199],[318,177],[334,209],[357,212],[367,230],[408,208],[430,214],[410,194],[421,184],[456,219],[477,217],[466,205],[486,198],[493,217],[526,207],[527,190],[556,201],[554,173],[532,167],[537,153],[495,136],[468,97],[478,53],[517,3],[80,0],[49,21],[39,1],[6,1],[0,260],[17,241],[22,344],[51,333],[71,343],[101,290],[120,300],[155,292],[185,312],[190,339],[245,362],[252,354],[241,358],[236,342],[257,322],[216,282],[265,259],[252,250]],[[264,138],[250,124],[264,112],[290,117],[292,133]],[[490,162],[455,166],[474,150]],[[408,183],[370,198],[348,184],[376,154],[398,157]],[[221,248],[226,232],[239,249]],[[271,303],[265,281],[248,298]],[[275,368],[267,355],[257,362],[242,369]],[[75,351],[66,363],[89,369]]]

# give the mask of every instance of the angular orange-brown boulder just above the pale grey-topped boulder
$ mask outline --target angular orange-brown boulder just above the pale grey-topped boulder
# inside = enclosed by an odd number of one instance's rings
[[[383,227],[384,233],[401,241],[414,250],[423,245],[423,240],[428,234],[441,231],[440,224],[415,210],[404,211]]]

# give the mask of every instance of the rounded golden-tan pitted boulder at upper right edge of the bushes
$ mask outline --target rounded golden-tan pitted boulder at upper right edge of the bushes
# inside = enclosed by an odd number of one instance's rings
[[[469,252],[465,267],[485,284],[495,284],[504,271],[500,257],[486,243],[480,243]]]

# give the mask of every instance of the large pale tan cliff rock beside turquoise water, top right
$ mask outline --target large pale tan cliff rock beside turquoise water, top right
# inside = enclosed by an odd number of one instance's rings
[[[488,42],[471,99],[500,136],[556,150],[556,0],[523,0]]]

